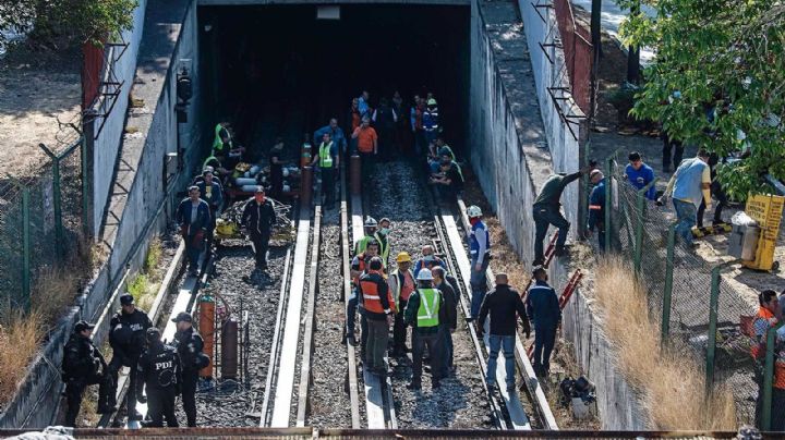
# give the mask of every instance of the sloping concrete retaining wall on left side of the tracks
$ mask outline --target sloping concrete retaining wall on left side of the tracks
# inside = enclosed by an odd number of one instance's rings
[[[191,0],[148,0],[147,7],[132,90],[134,98],[145,100],[145,109],[129,115],[128,124],[135,126],[138,135],[122,139],[116,162],[108,167],[116,170],[109,174],[114,181],[99,240],[110,256],[77,298],[77,306],[49,334],[14,399],[0,414],[0,428],[40,428],[52,423],[62,388],[62,346],[73,325],[80,319],[97,319],[126,268],[142,265],[149,240],[169,221],[174,188],[190,179],[201,157],[196,8]],[[174,117],[174,69],[179,70],[180,59],[191,60],[189,71],[195,85],[188,124],[177,124]],[[166,187],[164,158],[177,150],[178,139],[186,168]]]

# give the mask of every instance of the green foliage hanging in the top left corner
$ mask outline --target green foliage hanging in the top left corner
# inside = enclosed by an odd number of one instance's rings
[[[137,0],[2,0],[0,23],[27,34],[37,47],[100,45],[109,36],[131,29],[137,4]]]

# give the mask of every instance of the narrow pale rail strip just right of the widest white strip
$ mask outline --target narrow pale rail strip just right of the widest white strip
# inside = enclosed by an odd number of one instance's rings
[[[318,200],[319,196],[316,196]],[[314,308],[316,306],[316,280],[318,273],[319,237],[322,227],[322,206],[314,209],[314,233],[311,247],[311,271],[309,277],[307,304],[305,306],[305,329],[303,330],[303,351],[300,366],[300,387],[298,387],[297,426],[305,426],[307,414],[309,388],[311,384],[311,365],[313,357]]]

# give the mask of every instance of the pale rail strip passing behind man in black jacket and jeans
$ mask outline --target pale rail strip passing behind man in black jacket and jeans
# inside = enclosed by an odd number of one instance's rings
[[[461,248],[462,249],[462,243],[460,232],[458,232],[458,225],[455,222],[455,219],[452,216],[442,216],[442,222],[445,225],[445,230],[447,231],[447,239],[450,242],[450,245],[452,248]],[[458,270],[461,271],[463,283],[466,284],[466,291],[471,292],[471,285],[469,284],[470,280],[470,273],[471,273],[471,267],[469,257],[467,256],[466,252],[456,252],[455,255],[456,261],[458,262]],[[487,334],[487,332],[486,332]],[[487,337],[486,337],[487,338]],[[490,353],[490,350],[487,349],[487,341],[485,343],[485,350]],[[507,377],[507,372],[505,370],[504,366],[504,355],[499,351],[499,357],[496,363],[496,383],[498,386],[499,393],[502,394],[502,399],[505,402],[505,406],[507,407],[507,413],[510,417],[510,423],[512,424],[512,429],[531,429],[531,423],[529,421],[529,417],[527,417],[526,411],[523,410],[523,405],[521,404],[520,400],[518,399],[518,395],[515,393],[510,394],[507,392],[507,383],[505,381],[505,378]]]

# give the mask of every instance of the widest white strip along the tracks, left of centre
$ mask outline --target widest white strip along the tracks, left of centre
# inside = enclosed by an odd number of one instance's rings
[[[282,350],[278,363],[278,380],[276,384],[275,405],[270,427],[286,428],[289,426],[292,390],[294,388],[294,369],[297,368],[297,346],[300,339],[300,314],[303,305],[305,288],[305,269],[307,265],[309,240],[311,237],[311,212],[300,212],[297,241],[294,244],[294,264],[292,266],[289,304],[287,305],[286,323],[283,325]]]

